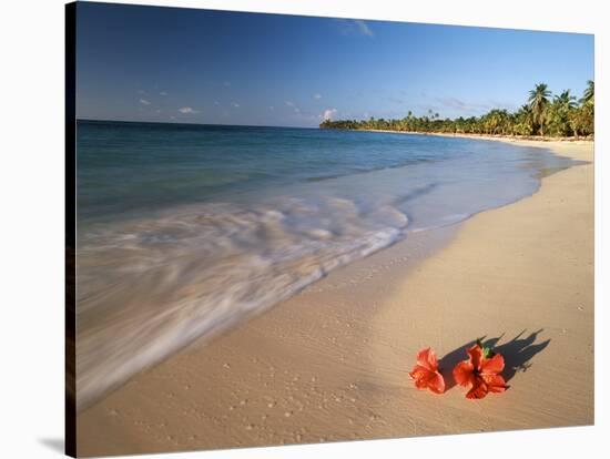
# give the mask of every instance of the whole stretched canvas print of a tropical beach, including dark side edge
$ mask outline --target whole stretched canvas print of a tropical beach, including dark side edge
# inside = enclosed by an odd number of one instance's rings
[[[593,422],[593,37],[67,6],[67,452]]]

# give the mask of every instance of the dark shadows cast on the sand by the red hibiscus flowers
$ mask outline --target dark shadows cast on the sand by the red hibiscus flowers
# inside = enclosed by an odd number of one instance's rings
[[[484,344],[485,347],[492,347],[494,351],[501,354],[505,358],[505,369],[502,376],[508,382],[518,371],[527,371],[531,367],[531,358],[542,351],[550,343],[550,339],[536,343],[538,335],[542,333],[542,329],[538,332],[530,333],[529,336],[526,335],[526,330],[522,330],[519,335],[512,338],[510,341],[498,345],[498,343],[504,338],[504,334],[497,338],[487,338],[482,336],[479,340]],[[456,385],[454,379],[453,369],[461,360],[466,360],[468,355],[466,350],[474,346],[477,343],[476,339],[466,343],[464,346],[458,347],[455,350],[451,350],[445,357],[440,359],[438,366],[440,373],[445,378],[446,390],[449,390]]]

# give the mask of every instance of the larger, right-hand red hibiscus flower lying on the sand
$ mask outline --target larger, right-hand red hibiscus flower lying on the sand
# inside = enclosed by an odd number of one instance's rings
[[[454,378],[460,386],[471,386],[466,398],[485,398],[488,392],[504,392],[505,379],[500,373],[505,368],[505,359],[500,354],[494,354],[477,343],[467,350],[469,359],[460,361],[454,368]]]

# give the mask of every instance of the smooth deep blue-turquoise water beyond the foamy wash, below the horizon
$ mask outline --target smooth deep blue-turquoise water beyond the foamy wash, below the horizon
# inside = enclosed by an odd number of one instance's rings
[[[469,144],[309,129],[81,121],[79,216],[87,223],[175,204],[240,201],[295,183],[457,160],[476,153]]]

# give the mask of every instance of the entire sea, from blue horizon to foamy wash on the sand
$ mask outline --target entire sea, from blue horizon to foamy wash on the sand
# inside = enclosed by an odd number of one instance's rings
[[[80,406],[338,266],[573,164],[390,133],[79,121],[77,134]]]

